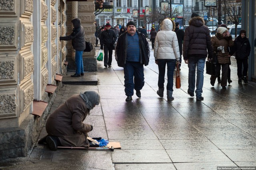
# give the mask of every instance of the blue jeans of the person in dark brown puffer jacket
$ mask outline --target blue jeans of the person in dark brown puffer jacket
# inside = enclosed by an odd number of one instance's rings
[[[204,64],[205,58],[188,57],[188,92],[194,93],[196,83],[196,97],[202,97]]]

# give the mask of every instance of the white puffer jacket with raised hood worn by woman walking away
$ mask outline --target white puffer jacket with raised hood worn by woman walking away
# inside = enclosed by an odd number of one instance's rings
[[[180,49],[176,33],[174,29],[174,22],[170,19],[165,19],[162,22],[162,30],[156,34],[154,44],[155,59],[176,59],[180,60]]]

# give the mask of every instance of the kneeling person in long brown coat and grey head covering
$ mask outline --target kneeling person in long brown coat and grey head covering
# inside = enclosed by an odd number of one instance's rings
[[[46,138],[49,148],[57,150],[58,146],[89,147],[87,132],[92,125],[83,121],[95,105],[100,104],[100,96],[96,91],[86,91],[67,99],[50,115],[46,122]]]

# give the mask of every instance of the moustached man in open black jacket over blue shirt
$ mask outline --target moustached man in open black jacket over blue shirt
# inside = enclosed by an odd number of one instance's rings
[[[116,44],[116,61],[124,67],[124,91],[126,101],[132,101],[134,89],[140,98],[140,90],[144,86],[144,67],[149,62],[150,48],[144,34],[136,31],[136,25],[127,23],[127,32],[119,36]]]

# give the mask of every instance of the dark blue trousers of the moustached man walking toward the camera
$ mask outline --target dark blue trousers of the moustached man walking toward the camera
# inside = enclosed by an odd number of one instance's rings
[[[134,77],[134,82],[133,82]],[[141,90],[144,86],[144,67],[139,62],[126,61],[124,65],[124,92],[126,96],[133,96],[133,89]]]

